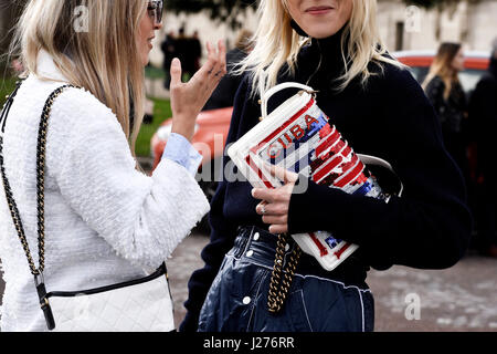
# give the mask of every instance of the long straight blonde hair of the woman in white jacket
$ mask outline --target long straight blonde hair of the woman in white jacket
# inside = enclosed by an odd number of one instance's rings
[[[71,84],[86,88],[116,114],[134,155],[145,104],[135,39],[146,10],[147,2],[136,0],[30,0],[10,49],[25,74],[36,76],[38,54],[46,51]],[[87,14],[87,30],[76,30],[82,14]]]

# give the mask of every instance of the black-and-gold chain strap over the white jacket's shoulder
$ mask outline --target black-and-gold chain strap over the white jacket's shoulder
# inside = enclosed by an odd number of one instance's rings
[[[28,258],[28,263],[31,269],[31,273],[38,277],[43,273],[45,268],[45,218],[44,218],[44,183],[45,183],[45,153],[46,153],[46,131],[49,128],[49,117],[52,111],[52,105],[59,95],[67,87],[75,87],[73,85],[64,85],[55,90],[47,98],[43,113],[40,119],[39,136],[38,136],[38,147],[36,147],[36,202],[38,202],[38,251],[39,251],[39,268],[34,266],[33,258],[25,238],[24,228],[21,222],[21,217],[19,209],[13,199],[12,189],[10,187],[9,180],[7,179],[6,169],[3,166],[3,137],[0,137],[0,170],[3,183],[3,188],[6,190],[7,201],[9,205],[10,214],[12,216],[12,221],[14,223],[15,230],[18,231],[19,240],[21,241],[22,248],[24,249],[25,256]],[[7,117],[6,117],[7,118]]]

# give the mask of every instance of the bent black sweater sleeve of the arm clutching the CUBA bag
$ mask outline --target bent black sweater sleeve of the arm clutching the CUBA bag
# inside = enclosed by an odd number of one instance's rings
[[[414,79],[398,70],[384,81],[385,119],[377,124],[385,124],[391,138],[377,150],[402,180],[403,196],[387,204],[309,181],[306,192],[292,196],[289,232],[334,232],[359,244],[372,267],[452,267],[463,257],[472,229],[461,171],[446,153],[434,110]]]

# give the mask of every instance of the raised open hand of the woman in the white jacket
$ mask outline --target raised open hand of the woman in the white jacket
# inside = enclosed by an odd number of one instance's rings
[[[208,42],[207,50],[207,63],[187,83],[181,82],[179,59],[175,58],[171,63],[172,133],[181,134],[189,140],[193,137],[198,114],[226,74],[226,48],[223,41],[219,41],[218,50]]]

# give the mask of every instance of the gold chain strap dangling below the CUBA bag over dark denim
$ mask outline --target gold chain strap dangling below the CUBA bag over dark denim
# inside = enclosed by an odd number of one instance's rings
[[[289,261],[283,270],[285,246],[287,241],[287,233],[278,235],[276,257],[274,260],[273,273],[271,274],[269,292],[267,295],[267,308],[272,313],[278,313],[283,309],[302,254],[300,247],[295,244],[295,248],[289,256]]]

